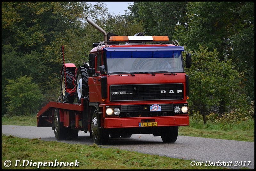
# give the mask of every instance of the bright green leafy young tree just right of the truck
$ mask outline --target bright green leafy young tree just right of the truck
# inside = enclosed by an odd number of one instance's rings
[[[219,112],[221,100],[228,102],[227,112],[247,106],[244,94],[238,91],[242,74],[232,69],[230,61],[220,61],[216,50],[207,49],[199,46],[193,53],[189,78],[191,110],[201,112],[204,124],[207,114]]]

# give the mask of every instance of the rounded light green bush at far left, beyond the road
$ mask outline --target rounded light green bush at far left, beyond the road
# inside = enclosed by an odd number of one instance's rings
[[[8,98],[7,113],[9,115],[31,115],[38,111],[43,95],[32,77],[20,76],[15,80],[8,79],[5,97]]]

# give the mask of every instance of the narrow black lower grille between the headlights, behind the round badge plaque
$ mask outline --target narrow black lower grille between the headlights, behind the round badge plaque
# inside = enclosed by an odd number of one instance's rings
[[[121,106],[121,112],[149,112],[151,105],[125,105]],[[173,105],[172,104],[160,104],[161,111],[172,111]]]

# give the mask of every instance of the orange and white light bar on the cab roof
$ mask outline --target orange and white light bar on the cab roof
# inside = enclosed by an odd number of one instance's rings
[[[169,41],[168,36],[111,36],[109,41]]]

